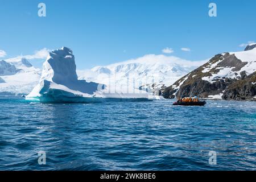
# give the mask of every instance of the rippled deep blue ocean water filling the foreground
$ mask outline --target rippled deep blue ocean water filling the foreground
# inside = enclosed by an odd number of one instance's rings
[[[173,101],[40,104],[1,97],[0,170],[256,169],[256,102]],[[216,164],[209,164],[209,151]]]

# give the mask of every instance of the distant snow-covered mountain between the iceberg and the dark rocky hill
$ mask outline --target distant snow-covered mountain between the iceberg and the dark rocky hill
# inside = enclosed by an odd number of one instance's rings
[[[106,66],[98,66],[90,71],[79,71],[81,79],[99,82],[115,88],[141,88],[152,92],[164,88],[180,77],[204,64],[206,61],[188,61],[175,56],[145,55]]]

